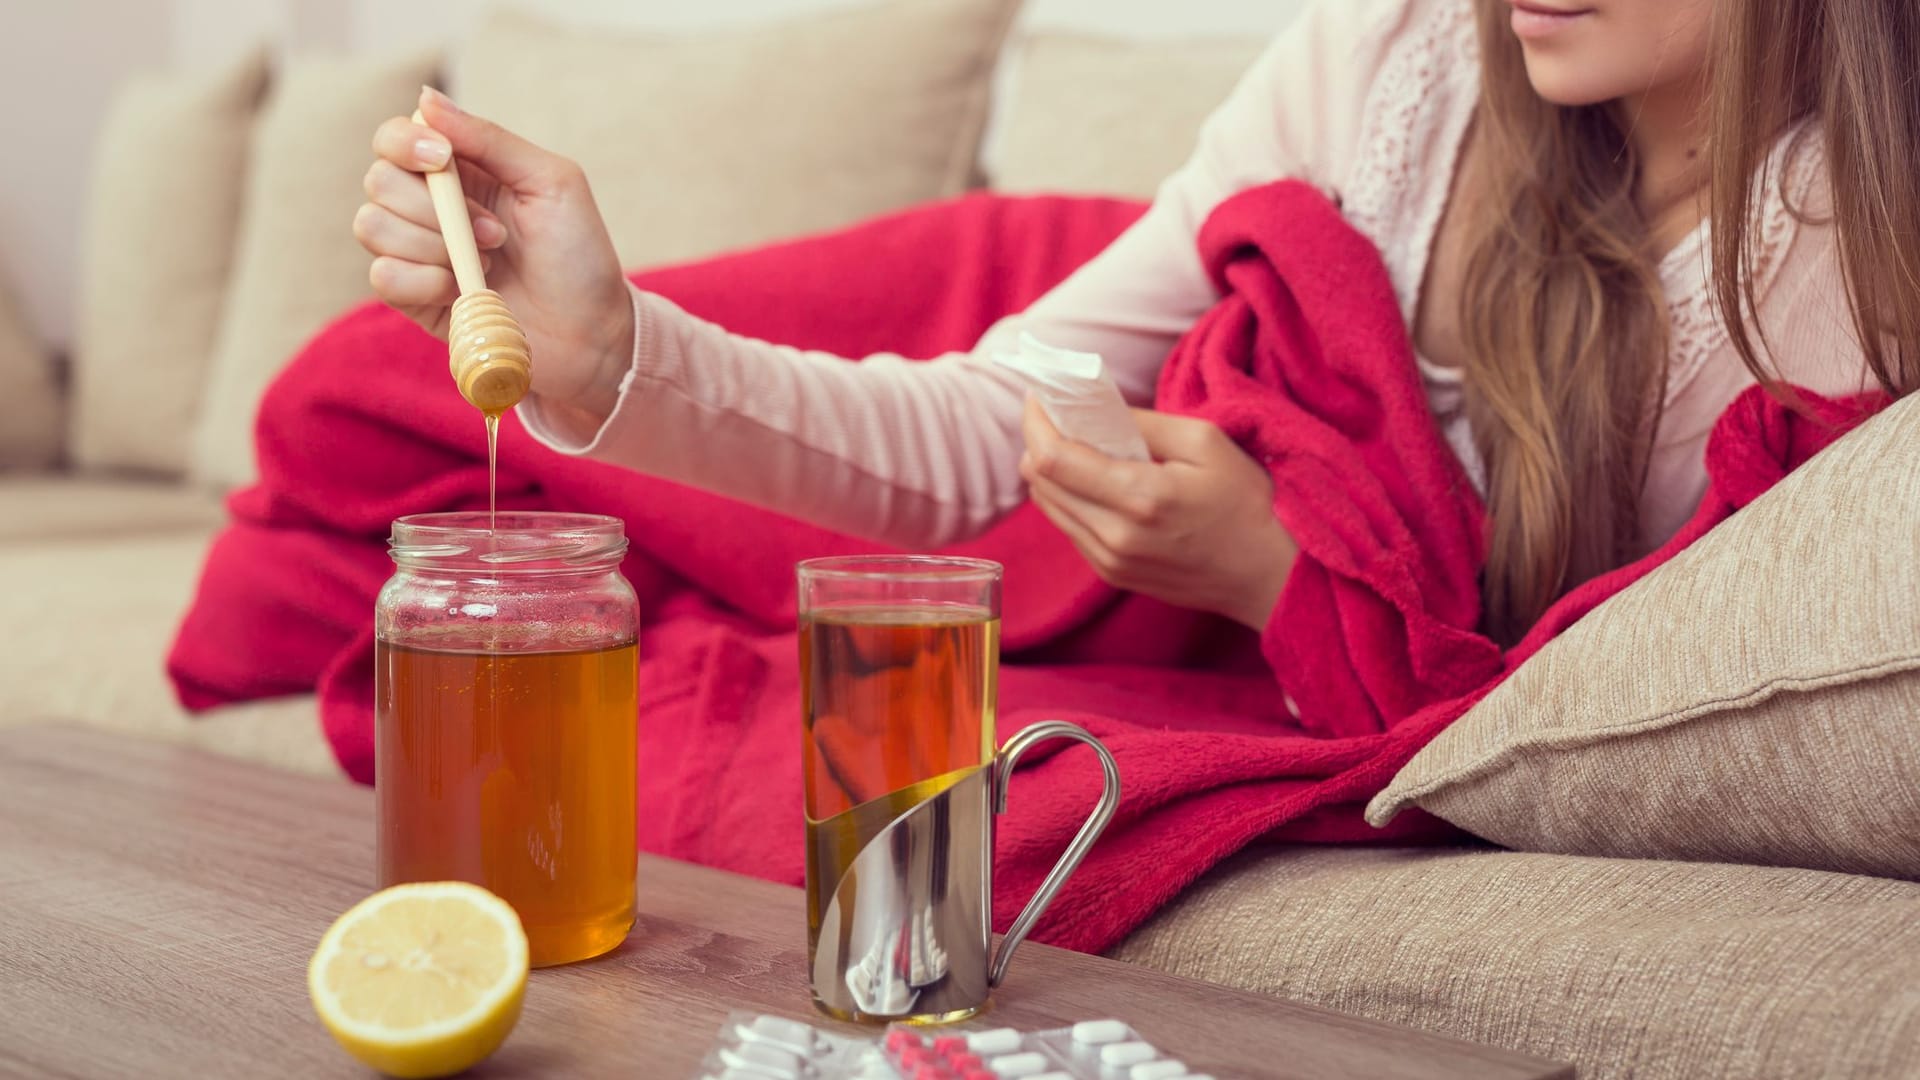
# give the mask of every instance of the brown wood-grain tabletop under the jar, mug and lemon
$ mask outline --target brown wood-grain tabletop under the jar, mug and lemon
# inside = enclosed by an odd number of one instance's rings
[[[313,1017],[305,965],[371,890],[367,788],[0,730],[0,1074],[369,1078]],[[682,1078],[732,1009],[828,1022],[806,997],[801,890],[641,857],[639,907],[616,951],[532,972],[518,1028],[474,1076]],[[1094,1017],[1221,1078],[1572,1076],[1031,942],[977,1024]]]

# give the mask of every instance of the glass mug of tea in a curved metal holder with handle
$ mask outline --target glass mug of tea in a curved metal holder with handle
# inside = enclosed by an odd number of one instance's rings
[[[995,753],[998,563],[808,559],[799,623],[814,1005],[868,1022],[972,1017],[1114,817],[1114,755],[1058,721]],[[1104,788],[989,959],[995,815],[1020,755],[1048,738],[1091,746]]]

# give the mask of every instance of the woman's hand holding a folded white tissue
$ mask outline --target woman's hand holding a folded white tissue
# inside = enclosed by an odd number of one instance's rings
[[[1300,553],[1273,517],[1273,479],[1208,421],[1133,415],[1152,463],[1064,438],[1029,400],[1033,502],[1108,584],[1265,628]]]

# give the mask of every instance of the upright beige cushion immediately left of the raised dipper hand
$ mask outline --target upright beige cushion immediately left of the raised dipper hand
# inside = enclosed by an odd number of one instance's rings
[[[315,331],[372,294],[353,238],[372,131],[413,111],[436,67],[432,54],[301,58],[275,81],[253,127],[234,284],[194,434],[196,480],[253,479],[261,392]]]

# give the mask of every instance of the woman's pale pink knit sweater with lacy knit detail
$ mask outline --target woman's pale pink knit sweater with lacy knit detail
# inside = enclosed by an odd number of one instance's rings
[[[632,371],[597,430],[576,430],[538,398],[536,438],[841,532],[931,548],[993,525],[1025,498],[1021,386],[991,363],[1020,329],[1098,352],[1135,404],[1150,404],[1173,342],[1217,294],[1194,236],[1229,194],[1281,177],[1338,194],[1380,248],[1411,319],[1478,92],[1471,6],[1459,0],[1321,0],[1281,35],[1206,121],[1192,158],[1152,209],[1104,254],[989,331],[929,363],[879,354],[847,363],[730,334],[634,292]],[[1822,394],[1866,384],[1832,229],[1820,221],[1816,140],[1782,140],[1759,213],[1759,321],[1772,361]],[[1799,150],[1789,154],[1788,148]],[[929,252],[937,258],[937,252]],[[1705,490],[1715,417],[1753,379],[1728,344],[1707,286],[1707,227],[1661,265],[1670,382],[1644,496],[1647,546],[1672,534]],[[1434,413],[1469,473],[1457,375],[1423,363]],[[753,463],[804,457],[806,482],[774,486]]]

